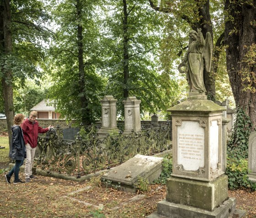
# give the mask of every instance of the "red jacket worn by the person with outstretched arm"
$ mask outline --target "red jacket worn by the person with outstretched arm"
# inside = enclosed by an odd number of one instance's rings
[[[24,135],[25,144],[29,143],[31,147],[37,147],[38,133],[48,132],[48,128],[42,128],[38,126],[38,122],[30,122],[27,118],[22,124],[22,131]]]

